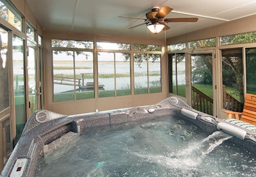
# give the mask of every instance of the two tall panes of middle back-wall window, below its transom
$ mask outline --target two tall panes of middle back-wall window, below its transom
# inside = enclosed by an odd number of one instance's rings
[[[98,52],[99,97],[131,95],[130,54]]]

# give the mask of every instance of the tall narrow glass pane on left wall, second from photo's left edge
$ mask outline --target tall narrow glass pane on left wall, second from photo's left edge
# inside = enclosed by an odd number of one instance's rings
[[[15,98],[16,132],[18,140],[26,123],[26,97],[24,75],[24,40],[13,36],[13,88]]]

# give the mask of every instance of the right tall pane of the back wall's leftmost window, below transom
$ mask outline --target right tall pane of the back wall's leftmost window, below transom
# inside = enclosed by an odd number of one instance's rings
[[[76,100],[94,98],[93,52],[76,52]]]

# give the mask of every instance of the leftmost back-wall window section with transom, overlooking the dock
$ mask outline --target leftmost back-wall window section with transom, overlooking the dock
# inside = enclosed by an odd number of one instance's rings
[[[51,45],[56,48],[52,50],[54,102],[94,98],[93,52],[90,50],[93,42],[52,40]],[[59,47],[67,50],[57,50]]]

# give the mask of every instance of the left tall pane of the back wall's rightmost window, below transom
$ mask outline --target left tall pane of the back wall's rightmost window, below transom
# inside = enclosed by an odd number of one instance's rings
[[[147,54],[134,54],[134,94],[148,93]]]

